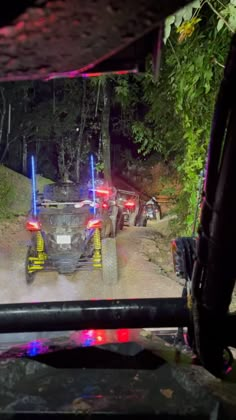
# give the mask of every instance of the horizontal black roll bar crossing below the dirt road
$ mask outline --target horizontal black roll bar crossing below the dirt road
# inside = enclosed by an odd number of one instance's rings
[[[188,318],[182,298],[4,304],[0,333],[181,327]]]

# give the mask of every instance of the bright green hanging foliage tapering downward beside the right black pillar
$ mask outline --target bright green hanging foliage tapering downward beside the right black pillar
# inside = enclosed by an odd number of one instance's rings
[[[175,42],[175,55],[169,55],[167,64],[172,68],[170,83],[175,96],[176,112],[184,131],[184,155],[178,164],[182,179],[178,214],[182,216],[182,229],[192,231],[199,173],[204,167],[211,120],[229,37],[215,31],[216,16],[205,23],[204,31],[197,30],[185,43]],[[176,59],[178,57],[178,60]]]

